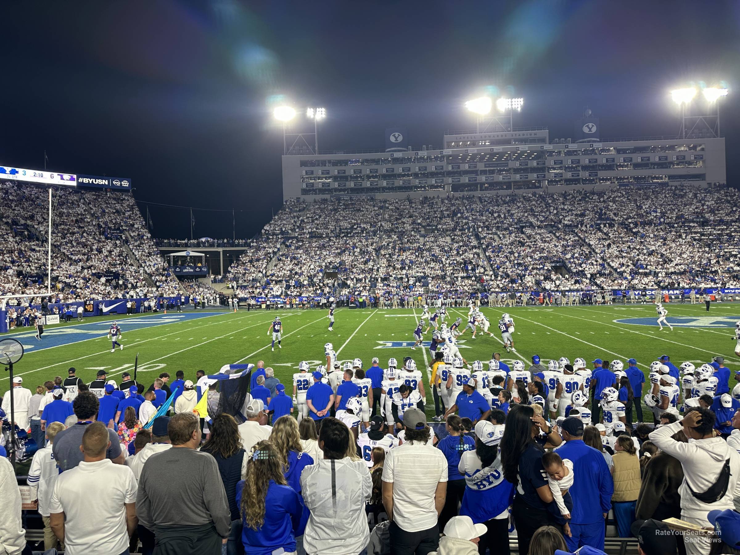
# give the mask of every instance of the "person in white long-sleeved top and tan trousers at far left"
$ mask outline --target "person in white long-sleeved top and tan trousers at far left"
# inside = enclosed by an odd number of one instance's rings
[[[50,525],[49,505],[56,479],[59,477],[59,469],[54,460],[52,446],[56,434],[62,430],[64,430],[64,424],[59,422],[53,422],[47,426],[46,438],[49,440],[49,444],[46,445],[46,447],[38,449],[38,451],[33,454],[31,467],[28,471],[30,497],[31,499],[36,500],[38,514],[41,515],[41,520],[44,522],[45,550],[55,548],[58,543],[58,539],[54,535]],[[64,551],[64,543],[62,543],[61,549]]]

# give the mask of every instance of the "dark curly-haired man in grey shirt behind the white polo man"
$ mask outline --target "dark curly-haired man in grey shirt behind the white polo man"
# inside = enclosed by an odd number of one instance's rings
[[[82,435],[85,433],[87,426],[95,422],[99,407],[98,397],[95,397],[95,394],[90,393],[90,391],[81,391],[75,397],[72,408],[75,411],[77,423],[70,425],[66,430],[60,431],[54,439],[54,460],[62,471],[75,468],[84,460],[84,454],[80,451]],[[110,445],[105,453],[105,458],[112,460],[117,465],[124,464],[126,457],[124,452],[121,451],[121,441],[118,440],[118,434],[108,428],[108,437]]]

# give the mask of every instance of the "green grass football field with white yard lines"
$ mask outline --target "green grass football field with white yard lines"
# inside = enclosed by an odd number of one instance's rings
[[[482,308],[482,312],[491,320],[490,331],[494,337],[478,332],[474,340],[468,331],[460,337],[460,352],[468,362],[482,360],[487,363],[494,351],[502,354],[511,366],[511,360],[519,358],[525,365],[530,364],[532,355],[539,354],[543,361],[568,357],[571,362],[576,357],[583,357],[587,362],[595,358],[625,362],[634,357],[640,369],[645,371],[650,362],[662,354],[670,355],[670,360],[679,366],[690,360],[696,366],[709,362],[713,356],[722,355],[726,365],[732,370],[740,369],[740,358],[734,354],[735,340],[733,327],[692,327],[692,318],[709,315],[711,320],[727,323],[740,319],[740,306],[736,304],[713,303],[707,314],[704,305],[668,304],[669,321],[672,318],[684,319],[682,327],[674,325],[673,332],[667,328],[662,331],[657,326],[618,323],[614,320],[647,318],[656,320],[653,305],[627,306],[578,306],[578,307],[514,307]],[[207,311],[206,311],[207,312]],[[499,340],[496,323],[502,312],[509,312],[514,317],[516,332],[514,344],[517,353],[506,353]],[[70,332],[70,341],[60,346],[44,349],[49,343],[49,335],[44,341],[33,338],[33,328],[4,334],[2,337],[13,337],[14,334],[31,334],[24,337],[24,344],[33,343],[34,348],[24,354],[16,364],[15,373],[24,378],[24,386],[33,389],[45,380],[54,376],[67,377],[67,369],[75,366],[78,377],[89,383],[95,379],[98,369],[110,372],[108,379],[120,383],[121,373],[133,370],[135,354],[139,354],[138,380],[149,386],[161,371],[168,371],[171,381],[175,371],[182,370],[185,379],[195,381],[195,371],[202,369],[206,374],[215,374],[221,366],[229,363],[256,363],[264,360],[265,366],[275,369],[275,376],[286,384],[286,393],[292,393],[292,374],[297,372],[301,360],[309,361],[312,370],[323,360],[323,345],[334,344],[337,360],[344,362],[360,357],[363,367],[369,368],[372,357],[380,359],[380,366],[386,367],[389,357],[395,357],[402,363],[403,357],[411,356],[423,374],[431,360],[428,349],[414,344],[413,331],[420,309],[338,309],[335,312],[334,332],[329,332],[329,320],[323,310],[283,310],[253,312],[213,312],[194,320],[162,323],[146,328],[137,328],[127,320],[131,318],[160,318],[163,314],[118,315],[115,320],[121,326],[124,345],[123,351],[115,349],[110,352],[110,341],[107,339],[107,326],[104,324],[113,317],[87,318],[85,323],[94,323],[99,334],[88,334],[83,340],[73,334],[80,324],[73,321],[58,326],[47,326],[47,332],[64,328]],[[456,317],[462,318],[461,329],[467,322],[467,308],[448,309],[447,322]],[[170,313],[172,315],[172,313]],[[268,328],[273,318],[279,315],[283,320],[283,348],[275,352],[270,350],[272,333]],[[642,320],[646,321],[646,320]],[[673,323],[673,322],[672,322]],[[707,325],[710,320],[694,320],[694,325]],[[99,328],[97,327],[99,324]],[[734,326],[734,324],[732,324]],[[87,338],[90,337],[90,338]],[[424,340],[431,339],[431,330]],[[393,342],[406,342],[406,346],[396,346]],[[485,366],[487,368],[487,365]],[[591,368],[591,365],[589,365]],[[730,379],[730,388],[734,380]],[[7,391],[7,373],[0,377],[0,391]],[[428,403],[426,412],[434,415],[434,401],[427,388]],[[295,414],[295,413],[294,413]]]

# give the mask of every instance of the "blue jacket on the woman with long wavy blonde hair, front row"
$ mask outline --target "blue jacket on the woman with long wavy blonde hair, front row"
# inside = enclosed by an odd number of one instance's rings
[[[241,505],[241,492],[244,480],[236,485],[236,503]],[[289,485],[278,485],[270,480],[265,496],[265,517],[263,525],[253,530],[242,523],[241,542],[244,551],[250,555],[272,555],[283,548],[287,553],[295,551],[295,532],[300,528],[303,505],[300,497]]]

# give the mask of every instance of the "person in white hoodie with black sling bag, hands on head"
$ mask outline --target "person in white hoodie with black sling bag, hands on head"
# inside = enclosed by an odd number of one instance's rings
[[[733,499],[739,486],[740,454],[721,437],[715,437],[715,420],[708,408],[694,408],[683,420],[662,425],[649,436],[657,448],[681,462],[684,471],[679,488],[681,518],[699,526],[711,526],[707,520],[709,511],[734,508]],[[688,443],[671,437],[682,429]],[[687,535],[684,545],[687,555],[708,555],[711,544],[705,536]]]

